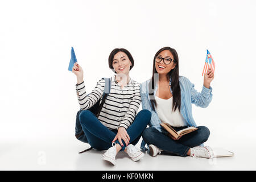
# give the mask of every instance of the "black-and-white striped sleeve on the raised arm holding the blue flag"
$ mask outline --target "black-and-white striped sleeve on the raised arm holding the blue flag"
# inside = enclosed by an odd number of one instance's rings
[[[81,110],[90,109],[90,107],[92,107],[98,100],[101,99],[104,92],[104,86],[105,81],[104,78],[102,78],[97,82],[97,85],[93,91],[86,95],[84,81],[80,84],[76,84],[77,99],[79,101]]]

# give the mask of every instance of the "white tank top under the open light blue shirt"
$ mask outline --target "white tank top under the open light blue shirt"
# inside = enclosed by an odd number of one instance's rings
[[[172,97],[163,99],[155,96],[157,106],[155,107],[159,119],[164,123],[169,123],[174,127],[187,126],[185,119],[180,114],[179,109],[172,111]]]

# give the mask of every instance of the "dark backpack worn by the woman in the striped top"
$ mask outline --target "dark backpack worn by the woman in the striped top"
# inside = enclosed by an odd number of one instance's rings
[[[102,109],[102,106],[104,105],[105,103],[105,100],[106,100],[106,97],[108,97],[109,95],[109,92],[110,92],[110,89],[111,89],[111,81],[112,79],[111,78],[104,78],[105,80],[105,86],[104,86],[104,93],[103,93],[103,96],[102,96],[102,101],[101,100],[98,100],[96,102],[96,104],[94,104],[92,107],[90,107],[90,110],[93,114],[96,115],[96,117],[98,118],[98,115],[100,114],[100,111]],[[101,103],[100,103],[101,101]],[[80,120],[79,120],[79,114],[81,113],[81,109],[79,111],[77,111],[77,114],[76,114],[76,138],[78,140],[80,140],[81,142],[84,142],[84,143],[88,143],[88,140],[84,134],[84,131],[82,130],[82,126],[80,124]],[[86,151],[89,151],[91,150],[92,147],[84,150],[84,151],[81,151],[79,152],[79,154],[83,153],[83,152],[86,152]]]

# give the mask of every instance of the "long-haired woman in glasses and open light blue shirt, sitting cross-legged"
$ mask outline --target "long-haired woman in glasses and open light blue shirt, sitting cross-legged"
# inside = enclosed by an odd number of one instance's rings
[[[192,117],[192,104],[207,107],[212,100],[210,82],[213,78],[212,70],[208,69],[203,89],[197,92],[188,78],[179,76],[179,58],[175,49],[164,47],[156,52],[152,78],[141,85],[142,108],[151,111],[150,127],[142,134],[142,150],[147,150],[147,143],[152,156],[163,152],[184,157],[213,157],[212,149],[203,147],[210,135],[209,129],[197,127]],[[189,126],[197,127],[197,130],[175,139],[167,136],[161,122],[169,123],[176,131]]]

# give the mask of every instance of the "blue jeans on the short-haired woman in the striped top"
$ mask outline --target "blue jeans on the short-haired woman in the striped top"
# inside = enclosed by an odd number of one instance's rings
[[[76,134],[84,131],[83,135],[78,138],[85,143],[89,143],[91,147],[97,150],[108,150],[112,147],[112,141],[117,135],[117,130],[110,130],[98,120],[98,118],[89,110],[82,110],[79,114],[80,123],[76,123]],[[141,138],[142,132],[146,129],[151,119],[151,113],[148,110],[141,110],[136,115],[131,126],[126,130],[130,137],[131,144],[137,144]],[[80,130],[80,131],[79,131]],[[118,140],[115,140],[118,143]],[[122,140],[123,147],[121,150],[125,150],[126,144]]]

